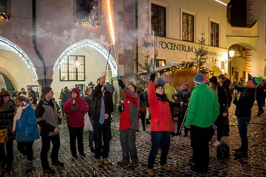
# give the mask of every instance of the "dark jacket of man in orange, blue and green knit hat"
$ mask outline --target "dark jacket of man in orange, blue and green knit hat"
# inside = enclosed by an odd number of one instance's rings
[[[233,104],[236,105],[236,117],[251,117],[251,109],[256,97],[256,88],[236,86],[235,89],[242,92],[238,100],[233,100]]]

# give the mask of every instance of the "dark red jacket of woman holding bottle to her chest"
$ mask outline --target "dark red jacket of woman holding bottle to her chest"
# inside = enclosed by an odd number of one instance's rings
[[[75,98],[76,106],[78,110],[71,111],[73,99],[67,100],[64,104],[64,112],[67,114],[67,125],[71,127],[84,127],[84,116],[89,111],[89,106],[86,101],[80,98],[80,91],[77,88],[71,90],[71,92],[77,92],[78,96]],[[70,92],[70,94],[71,94]]]

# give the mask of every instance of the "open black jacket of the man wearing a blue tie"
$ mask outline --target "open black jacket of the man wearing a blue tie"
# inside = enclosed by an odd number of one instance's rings
[[[93,108],[93,119],[100,119],[100,112],[101,112],[101,105],[102,105],[102,88],[103,85],[100,85],[100,82],[97,86],[95,86],[94,90],[92,91],[93,101],[94,101],[94,108]],[[104,108],[105,114],[109,115],[111,118],[111,113],[113,112],[113,96],[110,91],[104,89]]]

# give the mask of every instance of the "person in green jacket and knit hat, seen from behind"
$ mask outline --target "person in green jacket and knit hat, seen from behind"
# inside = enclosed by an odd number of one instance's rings
[[[216,92],[205,83],[204,76],[194,77],[194,90],[191,92],[185,126],[191,127],[190,139],[193,150],[192,171],[205,173],[209,164],[209,130],[217,119],[219,103]]]

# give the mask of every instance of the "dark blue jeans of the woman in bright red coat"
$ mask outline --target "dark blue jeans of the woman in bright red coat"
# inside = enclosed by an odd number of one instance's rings
[[[158,153],[160,142],[162,143],[160,165],[166,164],[167,155],[170,148],[170,132],[151,131],[150,136],[151,136],[152,146],[148,157],[148,168],[153,169],[153,165],[155,162],[156,155]]]

